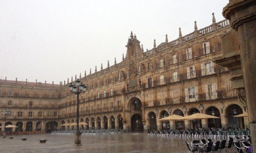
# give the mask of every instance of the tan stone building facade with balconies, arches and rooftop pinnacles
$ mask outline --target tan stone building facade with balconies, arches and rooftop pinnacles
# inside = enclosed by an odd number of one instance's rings
[[[229,21],[197,29],[144,51],[131,32],[127,52],[120,63],[102,68],[79,80],[87,91],[79,96],[79,122],[82,129],[124,128],[126,131],[168,128],[248,127],[248,118],[233,118],[247,112],[230,82],[230,71],[213,63],[222,55],[221,39],[232,30]],[[75,79],[76,80],[76,76]],[[74,83],[71,78],[71,83]],[[8,109],[7,124],[15,130],[61,130],[64,123],[76,122],[76,96],[67,84],[0,80],[0,110]],[[157,121],[169,115],[193,113],[215,115],[220,119]],[[6,124],[6,125],[7,125]],[[4,116],[0,117],[0,126]],[[14,130],[14,129],[12,129]]]

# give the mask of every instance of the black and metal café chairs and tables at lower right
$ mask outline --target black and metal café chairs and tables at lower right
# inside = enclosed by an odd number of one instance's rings
[[[148,137],[187,139],[186,145],[191,152],[251,152],[249,129],[188,129],[148,131]],[[187,142],[192,139],[191,143]]]

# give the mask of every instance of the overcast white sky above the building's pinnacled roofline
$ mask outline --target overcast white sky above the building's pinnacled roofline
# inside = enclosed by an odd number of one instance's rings
[[[0,0],[0,78],[48,83],[122,60],[131,30],[144,51],[224,20],[228,0]]]

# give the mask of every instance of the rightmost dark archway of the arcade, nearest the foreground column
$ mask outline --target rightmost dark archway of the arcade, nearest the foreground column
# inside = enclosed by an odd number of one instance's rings
[[[226,110],[226,115],[228,116],[228,127],[244,128],[244,118],[234,117],[242,113],[243,113],[243,110],[240,106],[236,104],[229,106]]]

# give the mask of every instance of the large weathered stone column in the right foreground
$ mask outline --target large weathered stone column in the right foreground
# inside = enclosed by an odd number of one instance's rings
[[[238,32],[252,148],[256,148],[256,3],[255,0],[229,0],[223,16]],[[241,90],[239,90],[240,93]],[[241,94],[239,94],[241,95]],[[238,96],[239,98],[239,96]],[[239,98],[242,100],[242,98]],[[255,152],[255,151],[254,151]]]

